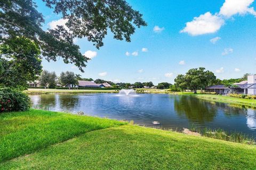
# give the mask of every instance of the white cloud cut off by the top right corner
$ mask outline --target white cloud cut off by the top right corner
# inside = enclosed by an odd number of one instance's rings
[[[220,15],[230,18],[233,15],[239,14],[244,15],[250,13],[256,15],[253,7],[250,5],[254,0],[226,0],[220,8]]]

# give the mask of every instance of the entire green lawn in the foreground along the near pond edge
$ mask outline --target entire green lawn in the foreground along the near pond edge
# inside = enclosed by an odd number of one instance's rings
[[[1,114],[0,121],[3,124],[1,169],[256,167],[255,146],[145,128],[106,118],[31,109]],[[48,140],[44,145],[35,147],[45,139]],[[13,146],[20,147],[23,152],[15,153],[17,150],[13,150]]]

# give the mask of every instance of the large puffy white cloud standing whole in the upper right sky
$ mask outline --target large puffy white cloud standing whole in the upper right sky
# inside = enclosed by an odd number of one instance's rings
[[[186,27],[180,32],[187,32],[191,36],[214,33],[218,31],[224,23],[225,21],[219,16],[206,12],[205,14],[195,17],[193,21],[187,22]]]

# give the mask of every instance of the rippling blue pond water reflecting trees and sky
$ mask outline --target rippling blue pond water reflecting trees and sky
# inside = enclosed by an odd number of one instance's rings
[[[50,111],[83,111],[86,115],[133,120],[135,124],[163,129],[221,128],[256,137],[256,110],[215,103],[193,96],[167,94],[55,94],[32,95],[34,108]],[[153,125],[158,121],[159,125]]]

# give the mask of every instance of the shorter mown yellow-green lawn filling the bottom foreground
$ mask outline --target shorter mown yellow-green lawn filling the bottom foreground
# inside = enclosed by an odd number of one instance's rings
[[[135,125],[85,133],[2,169],[255,169],[256,147]]]

